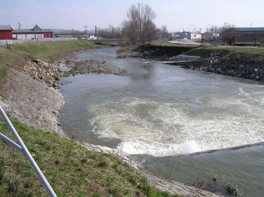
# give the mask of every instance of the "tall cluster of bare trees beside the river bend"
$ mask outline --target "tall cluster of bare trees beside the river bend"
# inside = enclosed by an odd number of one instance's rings
[[[143,44],[157,36],[156,12],[149,4],[133,4],[121,24],[121,37],[129,44]]]

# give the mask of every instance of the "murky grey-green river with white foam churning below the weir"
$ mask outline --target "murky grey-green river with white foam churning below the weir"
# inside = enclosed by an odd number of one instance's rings
[[[116,49],[77,54],[128,71],[65,77],[65,131],[133,154],[162,177],[224,195],[229,182],[244,196],[264,195],[264,83],[116,58]]]

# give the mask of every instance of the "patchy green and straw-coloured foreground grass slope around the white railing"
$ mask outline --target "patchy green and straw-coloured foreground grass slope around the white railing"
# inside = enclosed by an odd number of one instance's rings
[[[57,134],[11,121],[58,196],[170,196],[151,187],[117,156],[89,151]],[[0,132],[14,139],[2,117]],[[0,149],[2,196],[48,196],[23,153],[2,139]]]

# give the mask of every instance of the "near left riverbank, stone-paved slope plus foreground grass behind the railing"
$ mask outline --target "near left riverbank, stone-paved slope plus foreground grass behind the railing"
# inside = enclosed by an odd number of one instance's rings
[[[25,62],[31,59],[26,55],[26,52],[25,54],[13,53],[14,55],[18,55],[22,59],[25,58]],[[49,55],[46,58],[54,60]],[[5,60],[10,63],[6,57]],[[70,196],[85,195],[86,193],[91,194],[91,196],[178,196],[177,194],[170,194],[170,190],[167,191],[168,189],[161,186],[162,183],[157,184],[157,181],[150,185],[142,172],[129,167],[120,157],[86,150],[72,140],[62,138],[61,136],[65,136],[65,133],[60,128],[58,120],[60,108],[64,103],[63,96],[54,89],[53,85],[49,87],[45,78],[39,75],[41,71],[50,75],[48,73],[55,68],[51,68],[50,64],[42,60],[35,59],[31,63],[35,64],[27,64],[26,67],[29,68],[27,71],[24,69],[25,66],[22,66],[24,64],[21,64],[22,67],[14,67],[17,70],[14,68],[7,69],[5,80],[0,89],[1,105],[9,111],[11,116],[19,120],[11,118],[59,196],[65,194]],[[7,66],[4,63],[2,65],[3,67]],[[40,67],[40,69],[32,74],[33,67]],[[23,68],[24,73],[21,73],[23,72],[21,68]],[[13,138],[2,118],[0,119],[0,128],[2,133]],[[50,133],[51,131],[57,134]],[[1,149],[5,150],[0,153],[1,193],[5,195],[47,195],[24,155],[7,143],[0,143],[0,146]],[[12,153],[10,154],[10,152]],[[65,155],[67,155],[67,160],[65,160]],[[158,190],[154,188],[155,185],[158,185]],[[188,188],[189,186],[182,184],[178,188],[179,193],[187,192],[185,187]],[[191,190],[192,193],[194,191],[198,193],[198,196],[200,192],[214,196],[194,187],[191,187]]]

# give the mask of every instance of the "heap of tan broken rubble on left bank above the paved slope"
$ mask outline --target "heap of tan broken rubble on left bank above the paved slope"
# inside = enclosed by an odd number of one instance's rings
[[[44,62],[39,59],[28,59],[27,63],[21,67],[22,73],[31,78],[41,81],[55,89],[59,88],[58,80],[62,76],[59,66]]]

